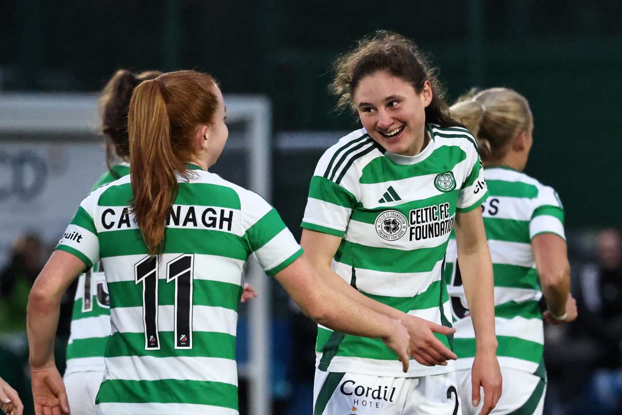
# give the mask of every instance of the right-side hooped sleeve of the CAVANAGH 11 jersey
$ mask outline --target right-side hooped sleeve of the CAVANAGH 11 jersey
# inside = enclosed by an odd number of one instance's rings
[[[258,194],[241,195],[243,238],[266,274],[275,275],[302,255],[279,213]]]

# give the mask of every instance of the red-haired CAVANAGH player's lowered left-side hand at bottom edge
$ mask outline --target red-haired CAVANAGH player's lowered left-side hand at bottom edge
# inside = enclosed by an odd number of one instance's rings
[[[30,376],[36,415],[70,413],[65,384],[53,362],[42,368],[30,368]]]

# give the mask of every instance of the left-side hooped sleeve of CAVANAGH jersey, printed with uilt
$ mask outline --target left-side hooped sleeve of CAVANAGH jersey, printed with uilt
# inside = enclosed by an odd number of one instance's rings
[[[93,220],[97,206],[96,196],[91,193],[82,201],[55,248],[77,256],[85,263],[86,268],[92,267],[100,260],[100,242]]]

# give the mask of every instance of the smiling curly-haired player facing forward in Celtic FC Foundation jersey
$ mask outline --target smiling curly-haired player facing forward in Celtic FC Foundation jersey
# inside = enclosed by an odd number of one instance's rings
[[[478,334],[474,382],[482,413],[501,394],[493,275],[481,219],[486,183],[475,140],[448,116],[417,47],[379,32],[336,63],[333,91],[363,128],[322,156],[311,179],[301,245],[320,275],[411,335],[407,373],[382,343],[318,327],[315,415],[456,414],[453,329],[441,278],[455,224]],[[436,333],[436,334],[435,334]],[[449,360],[449,361],[448,361]],[[473,392],[480,403],[480,389]],[[356,412],[355,412],[356,411]]]

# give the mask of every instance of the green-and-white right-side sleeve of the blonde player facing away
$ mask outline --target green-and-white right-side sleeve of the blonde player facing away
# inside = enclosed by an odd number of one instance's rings
[[[539,234],[552,233],[566,239],[564,232],[564,206],[557,192],[543,186],[535,199],[534,212],[529,222],[529,239]]]

